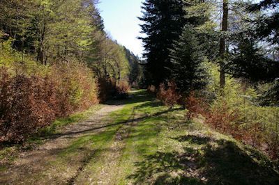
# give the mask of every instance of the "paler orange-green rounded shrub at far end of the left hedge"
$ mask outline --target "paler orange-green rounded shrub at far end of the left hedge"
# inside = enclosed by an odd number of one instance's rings
[[[61,113],[79,111],[98,104],[98,86],[89,68],[81,63],[62,63],[52,67],[61,97]]]

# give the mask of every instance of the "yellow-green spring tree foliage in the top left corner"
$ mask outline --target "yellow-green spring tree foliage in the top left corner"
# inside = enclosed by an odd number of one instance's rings
[[[13,49],[33,54],[40,63],[90,56],[95,32],[103,31],[93,1],[3,1],[0,29],[13,38]]]

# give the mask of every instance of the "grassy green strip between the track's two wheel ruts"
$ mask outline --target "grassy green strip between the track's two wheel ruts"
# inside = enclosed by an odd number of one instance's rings
[[[77,138],[70,139],[69,145],[59,147],[55,153],[43,162],[43,169],[34,171],[31,175],[24,175],[21,179],[24,183],[40,184],[73,184],[78,177],[82,177],[84,169],[89,163],[102,163],[104,154],[114,143],[116,133],[130,120],[130,110],[133,109],[133,99],[128,99],[121,111],[111,113],[110,118],[103,121],[104,129],[81,134]],[[110,102],[108,102],[110,104]],[[112,102],[115,104],[115,102]],[[96,166],[96,165],[95,165]],[[90,179],[87,176],[84,179]]]

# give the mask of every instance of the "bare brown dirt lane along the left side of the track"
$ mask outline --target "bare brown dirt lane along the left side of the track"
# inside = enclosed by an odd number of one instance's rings
[[[85,136],[96,135],[110,126],[110,113],[124,106],[121,102],[111,103],[88,119],[63,127],[35,150],[22,152],[12,166],[0,172],[0,184],[67,184],[90,153],[86,146],[75,148],[73,143],[82,143]],[[71,155],[75,153],[72,150],[80,151]]]

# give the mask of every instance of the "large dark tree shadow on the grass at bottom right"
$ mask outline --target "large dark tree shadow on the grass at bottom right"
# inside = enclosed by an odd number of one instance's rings
[[[182,154],[144,156],[128,179],[135,184],[279,184],[278,172],[257,163],[232,141],[199,135],[173,139],[184,144]]]

